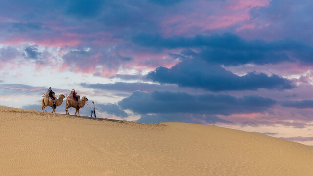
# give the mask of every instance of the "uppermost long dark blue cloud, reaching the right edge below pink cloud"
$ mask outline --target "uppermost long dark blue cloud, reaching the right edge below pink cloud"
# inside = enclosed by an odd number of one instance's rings
[[[313,47],[295,40],[245,40],[235,34],[198,35],[195,37],[163,38],[158,34],[139,34],[132,38],[135,44],[156,49],[199,48],[197,57],[210,63],[238,66],[248,63],[264,65],[279,62],[312,63]]]

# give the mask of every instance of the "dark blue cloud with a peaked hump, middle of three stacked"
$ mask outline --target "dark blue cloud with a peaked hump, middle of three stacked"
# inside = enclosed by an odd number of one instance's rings
[[[210,91],[291,89],[291,81],[278,75],[249,72],[238,76],[225,68],[200,59],[185,60],[171,68],[158,67],[147,75],[159,83],[178,84],[182,87],[203,88]]]

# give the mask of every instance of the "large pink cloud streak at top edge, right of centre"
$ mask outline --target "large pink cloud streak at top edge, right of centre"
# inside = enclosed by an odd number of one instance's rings
[[[238,30],[253,29],[249,10],[253,7],[264,7],[270,0],[226,0],[194,2],[188,11],[173,16],[168,15],[162,22],[162,32],[165,36],[175,34],[198,33],[206,30],[226,28],[232,25],[242,25]],[[183,10],[183,9],[182,9]],[[214,11],[214,14],[211,14]],[[189,13],[188,13],[189,12]],[[249,23],[247,23],[249,22]],[[188,35],[188,34],[187,34]]]

